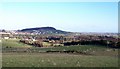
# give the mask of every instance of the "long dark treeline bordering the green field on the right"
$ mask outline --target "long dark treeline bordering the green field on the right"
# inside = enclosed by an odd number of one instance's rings
[[[120,48],[120,42],[115,41],[108,41],[108,40],[81,40],[81,41],[72,41],[72,42],[65,42],[64,46],[70,45],[101,45],[106,47],[112,48]]]

